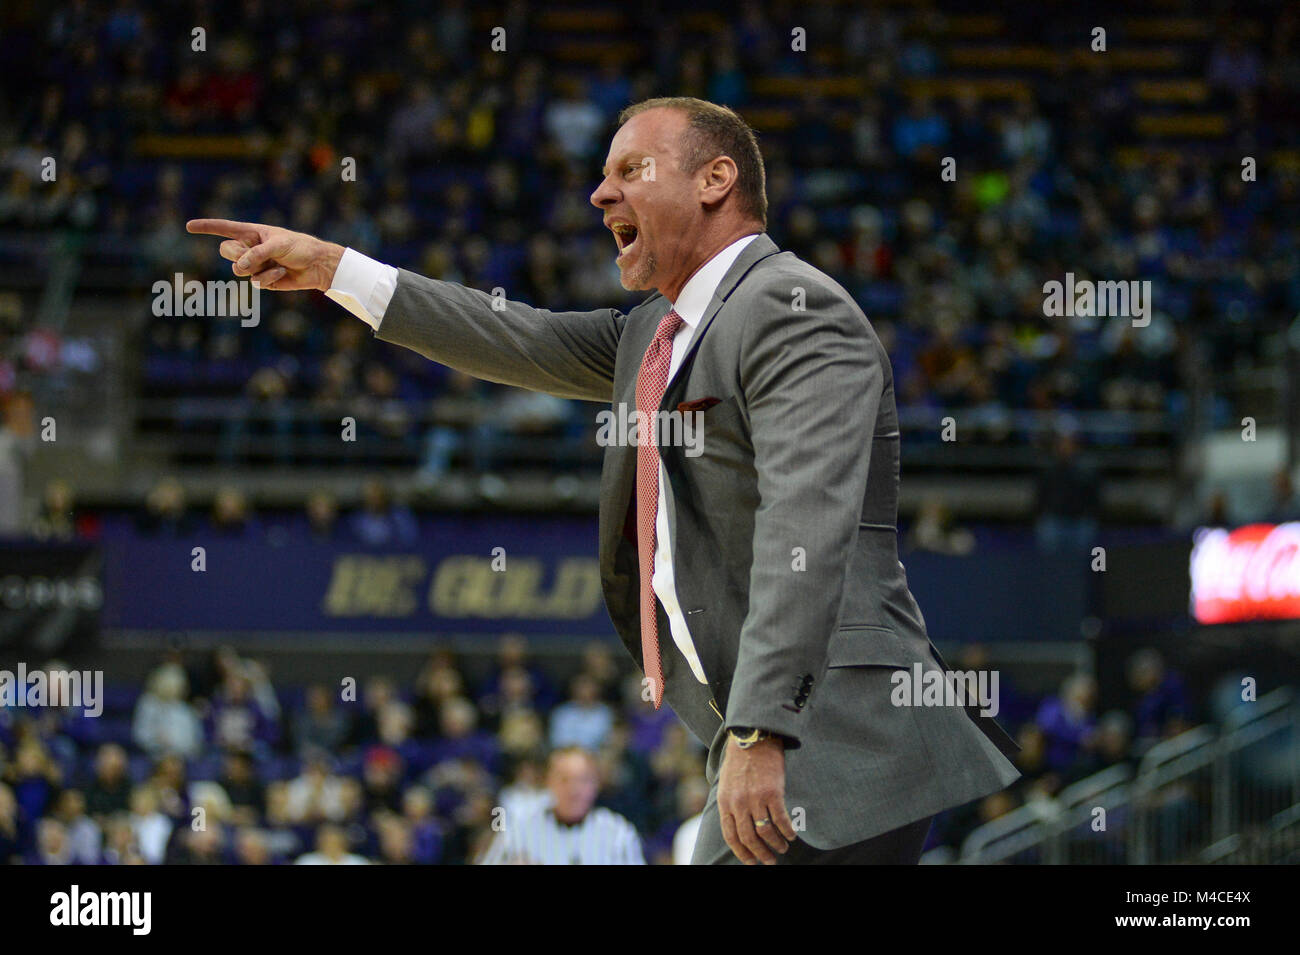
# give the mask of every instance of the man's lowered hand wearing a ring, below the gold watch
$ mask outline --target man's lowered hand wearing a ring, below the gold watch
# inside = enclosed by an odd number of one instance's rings
[[[785,812],[785,745],[780,739],[763,739],[748,750],[727,739],[718,774],[718,815],[723,838],[746,865],[775,865],[775,854],[789,848],[796,835]]]

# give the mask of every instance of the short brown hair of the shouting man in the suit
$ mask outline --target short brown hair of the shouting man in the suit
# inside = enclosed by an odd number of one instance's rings
[[[736,192],[740,208],[767,229],[767,172],[758,136],[734,110],[694,96],[658,96],[633,103],[619,113],[619,126],[647,109],[680,109],[686,114],[681,135],[681,169],[693,173],[705,162],[729,156],[736,164]]]

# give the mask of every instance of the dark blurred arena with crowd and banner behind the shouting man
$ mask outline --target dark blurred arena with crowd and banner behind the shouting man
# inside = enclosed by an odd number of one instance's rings
[[[619,110],[690,95],[755,129],[772,239],[880,335],[907,579],[1022,746],[923,861],[1300,860],[1297,26],[8,0],[0,670],[103,691],[9,677],[0,858],[472,864],[580,745],[645,860],[689,859],[705,751],[602,603],[599,405],[450,372],[318,292],[187,305],[231,274],[185,222],[627,311],[589,196]]]

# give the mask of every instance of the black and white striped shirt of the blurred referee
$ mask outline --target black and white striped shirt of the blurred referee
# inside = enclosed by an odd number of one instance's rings
[[[517,820],[507,815],[478,864],[645,865],[645,856],[637,830],[619,813],[598,807],[566,825],[545,806]]]

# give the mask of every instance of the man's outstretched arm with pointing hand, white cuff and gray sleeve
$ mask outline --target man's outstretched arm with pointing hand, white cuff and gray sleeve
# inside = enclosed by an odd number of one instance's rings
[[[224,236],[222,259],[259,288],[326,292],[370,324],[377,338],[476,378],[560,398],[612,399],[614,361],[627,321],[616,309],[533,308],[257,222],[198,218],[186,229]],[[339,287],[343,283],[350,287]]]

